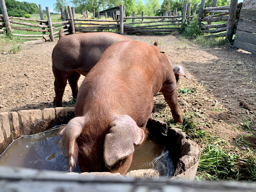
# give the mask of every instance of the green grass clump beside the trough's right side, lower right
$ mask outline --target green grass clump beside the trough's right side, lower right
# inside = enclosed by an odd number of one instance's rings
[[[196,173],[197,180],[256,180],[256,155],[255,151],[249,148],[249,144],[244,142],[243,137],[236,140],[237,144],[247,144],[246,150],[237,154],[237,147],[226,148],[227,142],[214,136],[212,133],[199,128],[199,124],[210,124],[209,122],[196,122],[195,116],[205,120],[203,116],[195,112],[185,112],[183,124],[174,124],[172,119],[165,122],[170,127],[181,128],[182,131],[194,139],[201,147]]]

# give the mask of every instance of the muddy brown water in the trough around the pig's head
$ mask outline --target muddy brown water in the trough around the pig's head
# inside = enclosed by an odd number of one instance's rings
[[[0,155],[0,165],[66,171],[67,158],[59,148],[61,137],[57,135],[58,131],[59,126],[13,140]],[[154,168],[162,176],[173,176],[174,173],[169,151],[151,137],[135,147],[129,170],[146,168]],[[78,163],[74,172],[80,172]]]

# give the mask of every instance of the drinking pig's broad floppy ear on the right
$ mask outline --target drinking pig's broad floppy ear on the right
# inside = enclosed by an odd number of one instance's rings
[[[133,144],[141,144],[145,138],[143,129],[126,114],[115,117],[110,127],[104,141],[104,162],[109,168],[133,153]]]

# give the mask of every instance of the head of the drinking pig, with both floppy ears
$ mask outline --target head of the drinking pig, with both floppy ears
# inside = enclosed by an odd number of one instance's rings
[[[85,117],[74,117],[60,131],[60,148],[68,158],[68,170],[79,167],[84,171],[110,171],[125,174],[128,170],[134,144],[141,144],[145,138],[142,128],[128,115],[116,115],[104,129],[91,131]],[[91,127],[91,126],[90,126]],[[100,133],[101,131],[101,133]],[[86,135],[86,136],[85,136]],[[101,136],[100,136],[101,135]],[[102,149],[102,150],[101,150]]]

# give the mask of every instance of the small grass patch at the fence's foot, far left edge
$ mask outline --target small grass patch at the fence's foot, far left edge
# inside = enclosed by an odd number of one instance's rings
[[[21,43],[20,37],[5,33],[4,36],[0,36],[0,52],[19,52],[22,48]]]

